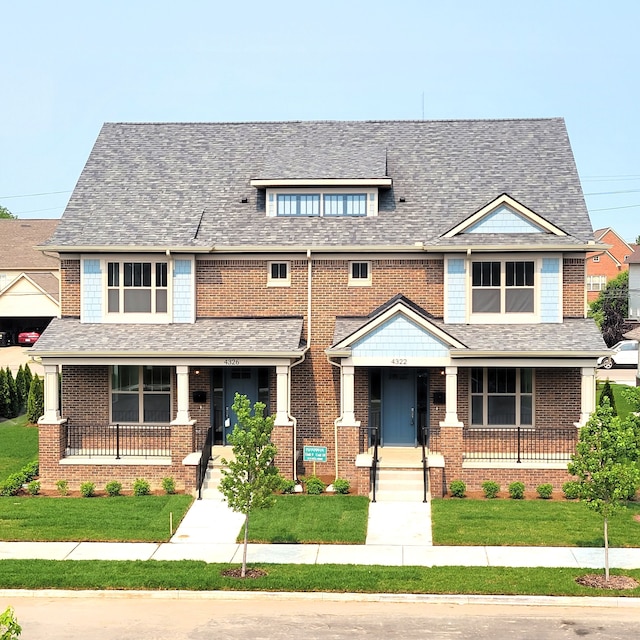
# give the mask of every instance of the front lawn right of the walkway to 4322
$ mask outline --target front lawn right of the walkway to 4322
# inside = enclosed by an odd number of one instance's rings
[[[580,502],[548,500],[434,500],[438,545],[602,547],[603,521]],[[640,546],[640,504],[609,520],[612,547]]]

